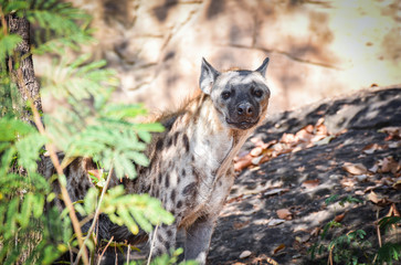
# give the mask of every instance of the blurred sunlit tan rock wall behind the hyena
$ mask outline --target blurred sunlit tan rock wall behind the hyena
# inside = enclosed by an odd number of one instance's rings
[[[99,40],[85,52],[120,77],[114,98],[150,109],[198,88],[201,59],[256,68],[271,57],[270,112],[401,84],[400,0],[73,0]],[[45,57],[34,59],[41,75]],[[44,110],[52,102],[44,98]]]

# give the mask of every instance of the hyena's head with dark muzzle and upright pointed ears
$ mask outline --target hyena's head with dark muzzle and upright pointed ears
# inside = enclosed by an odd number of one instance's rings
[[[265,80],[267,64],[268,57],[255,71],[220,73],[203,59],[200,88],[211,96],[222,124],[245,130],[264,117],[271,95]]]

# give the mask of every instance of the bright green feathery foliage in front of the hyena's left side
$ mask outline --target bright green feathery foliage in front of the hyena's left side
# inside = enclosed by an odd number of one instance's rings
[[[163,128],[136,121],[146,115],[141,105],[110,103],[118,80],[105,61],[93,62],[89,54],[76,59],[63,55],[66,49],[78,50],[81,44],[93,41],[87,14],[56,0],[0,0],[0,263],[51,264],[80,245],[68,210],[60,213],[53,206],[61,199],[68,204],[65,198],[53,193],[57,184],[53,181],[57,179],[63,189],[65,176],[45,179],[38,172],[43,146],[52,145],[64,152],[64,160],[60,161],[63,167],[75,157],[91,157],[106,170],[104,178],[112,168],[117,178],[135,178],[136,166],[148,165],[144,150],[151,132]],[[3,23],[7,15],[24,15],[35,32],[32,54],[52,54],[54,59],[41,80],[42,94],[62,104],[54,116],[41,114],[44,132],[21,121],[15,110],[21,102],[8,60],[12,57],[14,67],[19,66],[21,54],[14,49],[21,38],[8,32]],[[28,105],[33,106],[31,102]],[[147,194],[125,194],[123,187],[107,190],[104,197],[89,189],[74,206],[85,222],[98,211],[134,234],[139,227],[150,232],[154,225],[173,222],[160,201]],[[96,241],[89,240],[87,246],[95,253]],[[180,251],[172,257],[156,258],[154,264],[173,264],[179,254]]]

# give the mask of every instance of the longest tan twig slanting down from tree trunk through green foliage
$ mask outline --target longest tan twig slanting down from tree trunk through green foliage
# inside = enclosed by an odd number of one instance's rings
[[[46,136],[46,131],[44,130],[44,127],[43,127],[42,120],[40,118],[39,112],[36,109],[36,106],[34,105],[34,103],[32,100],[30,100],[30,103],[31,103],[31,108],[32,108],[32,113],[33,113],[33,120],[34,120],[34,123],[35,123],[35,125],[38,127],[38,130],[39,130],[39,132],[41,135]],[[55,155],[55,151],[54,151],[54,148],[53,148],[53,145],[52,144],[46,144],[45,147],[46,147],[46,150],[50,153],[50,159],[52,160],[52,162],[54,165],[54,168],[55,168],[55,170],[57,172],[59,183],[60,183],[60,189],[61,189],[62,198],[63,198],[63,201],[64,201],[66,208],[68,209],[70,219],[71,219],[71,222],[73,224],[73,227],[74,227],[74,232],[76,234],[76,237],[78,240],[78,245],[80,245],[81,248],[84,248],[83,250],[83,254],[84,254],[83,261],[84,261],[84,264],[85,265],[88,265],[89,264],[89,261],[88,261],[88,257],[87,257],[86,248],[84,247],[84,242],[82,241],[82,237],[83,236],[82,236],[82,231],[81,231],[81,226],[80,226],[80,221],[76,218],[75,209],[74,209],[74,205],[73,205],[73,203],[71,201],[71,198],[68,195],[68,192],[65,189],[65,186],[64,186],[63,181],[60,181],[61,176],[63,176],[64,173],[63,173],[62,168],[60,167],[59,158]]]

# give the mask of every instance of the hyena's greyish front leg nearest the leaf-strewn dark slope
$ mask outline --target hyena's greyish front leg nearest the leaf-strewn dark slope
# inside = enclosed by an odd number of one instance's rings
[[[186,237],[186,259],[205,264],[215,219],[200,218],[189,229]]]

